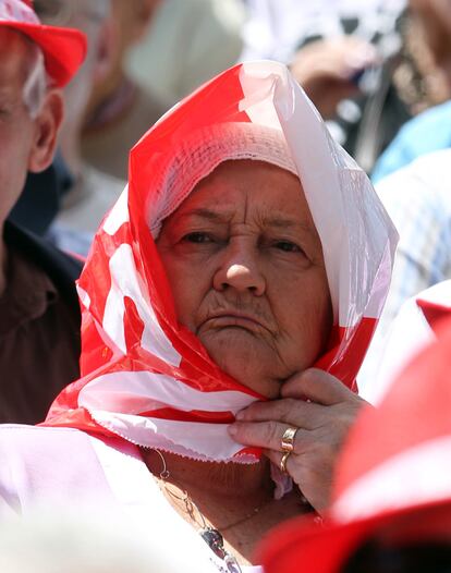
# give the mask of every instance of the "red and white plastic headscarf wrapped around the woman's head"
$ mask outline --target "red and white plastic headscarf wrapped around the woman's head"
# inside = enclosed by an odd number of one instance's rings
[[[158,233],[218,157],[248,157],[246,146],[226,146],[211,159],[211,142],[230,131],[277,133],[288,149],[279,154],[281,167],[294,168],[302,182],[334,313],[328,350],[316,366],[354,386],[387,293],[397,232],[366,174],[332,141],[287,68],[252,62],[200,87],[133,148],[129,186],[100,225],[78,281],[82,378],[58,397],[46,425],[119,435],[198,460],[258,455],[231,440],[227,427],[237,411],[263,398],[221,371],[178,322],[149,230]],[[205,146],[210,159],[195,174]],[[277,146],[269,143],[265,160],[278,164]],[[267,147],[253,157],[265,156]]]

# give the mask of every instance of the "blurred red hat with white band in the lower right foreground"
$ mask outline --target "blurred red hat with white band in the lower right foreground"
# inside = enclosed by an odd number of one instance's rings
[[[264,542],[267,573],[338,573],[366,540],[450,542],[451,319],[395,380],[380,406],[354,426],[336,475],[324,527],[293,520]]]

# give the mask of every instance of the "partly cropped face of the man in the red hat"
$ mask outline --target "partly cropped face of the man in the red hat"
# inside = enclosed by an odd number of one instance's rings
[[[22,36],[0,29],[0,222],[25,183],[34,123],[24,103],[28,46]]]

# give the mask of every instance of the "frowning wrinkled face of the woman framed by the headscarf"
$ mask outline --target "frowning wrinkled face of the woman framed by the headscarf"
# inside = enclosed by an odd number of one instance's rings
[[[157,241],[179,320],[226,373],[267,398],[310,366],[332,322],[322,249],[293,174],[226,161]]]

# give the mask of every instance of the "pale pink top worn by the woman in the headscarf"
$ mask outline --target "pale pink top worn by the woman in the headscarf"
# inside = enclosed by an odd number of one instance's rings
[[[105,508],[124,520],[167,529],[171,547],[211,573],[227,571],[207,544],[170,505],[139,450],[120,438],[95,438],[72,428],[0,426],[0,519],[36,505]],[[185,549],[183,549],[185,548]],[[197,561],[196,561],[197,562]],[[221,569],[222,568],[222,569]],[[261,568],[242,568],[259,573]],[[203,569],[204,571],[204,569]],[[209,571],[209,569],[207,569]]]

